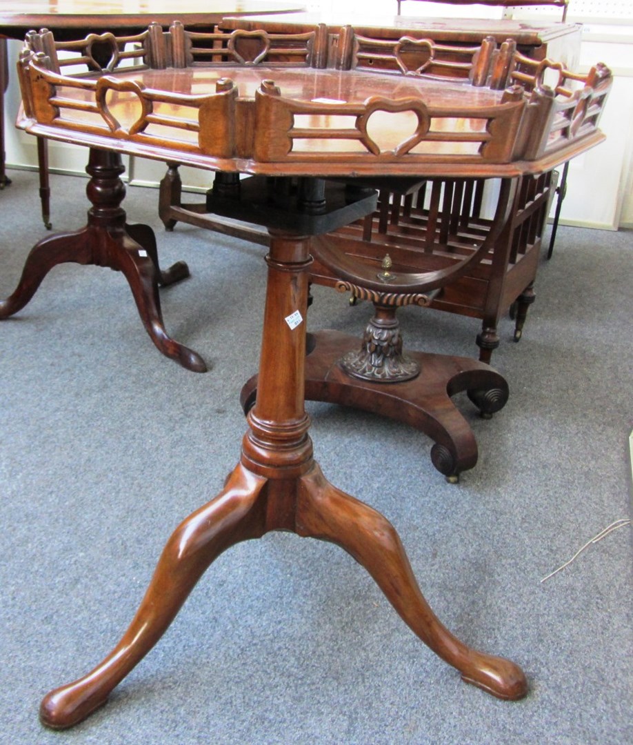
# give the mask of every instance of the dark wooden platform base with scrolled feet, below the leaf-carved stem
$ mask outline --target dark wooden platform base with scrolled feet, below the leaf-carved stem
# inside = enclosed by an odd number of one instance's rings
[[[485,418],[503,408],[508,384],[489,365],[466,357],[412,352],[407,355],[421,372],[401,382],[366,381],[348,375],[339,361],[358,349],[360,341],[336,331],[319,331],[308,337],[305,362],[305,398],[311,401],[351,406],[389,416],[411,425],[434,441],[433,466],[447,478],[459,480],[459,473],[477,463],[477,441],[471,426],[451,396],[467,391]],[[255,400],[257,378],[251,378],[241,393],[244,410]]]

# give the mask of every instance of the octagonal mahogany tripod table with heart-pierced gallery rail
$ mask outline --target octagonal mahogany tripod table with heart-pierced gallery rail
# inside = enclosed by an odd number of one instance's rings
[[[196,66],[190,42],[200,45],[205,38],[217,61]],[[241,40],[261,42],[255,60],[241,55]],[[116,153],[128,152],[229,176],[252,174],[244,184],[235,180],[237,195],[218,194],[214,209],[263,224],[270,234],[258,386],[239,463],[220,493],[176,528],[136,616],[112,653],[86,676],[51,691],[42,701],[42,722],[72,726],[104,704],[159,641],[211,562],[231,545],[269,530],[340,545],[369,571],[413,632],[457,668],[462,679],[502,699],[518,699],[527,692],[521,668],[473,650],[452,635],[424,599],[395,528],[322,475],[304,407],[312,252],[337,271],[341,282],[358,292],[380,294],[385,305],[388,296],[422,298],[481,256],[468,256],[448,270],[392,276],[388,267],[363,265],[313,237],[375,209],[375,191],[348,183],[351,173],[433,176],[466,169],[497,176],[502,180],[497,215],[503,223],[516,177],[555,165],[557,157],[596,144],[601,136],[592,125],[580,145],[559,143],[558,154],[551,156],[543,148],[531,152],[525,142],[519,148],[515,137],[527,114],[522,89],[486,88],[473,94],[469,85],[462,85],[451,98],[442,81],[413,75],[399,80],[394,92],[389,74],[328,67],[320,28],[288,37],[236,32],[224,48],[214,46],[215,41],[215,34],[188,34],[179,24],[168,34],[150,27],[133,39],[126,58],[133,64],[118,66],[115,37],[87,39],[84,52],[97,42],[112,48],[109,69],[87,77],[63,75],[54,56],[41,51],[42,39],[31,37],[22,55],[25,129],[83,143],[92,148],[93,164],[110,168],[116,165]],[[601,80],[605,88],[600,95],[605,95],[607,72]],[[582,100],[588,95],[585,91]],[[550,97],[544,98],[541,106],[551,107]],[[591,101],[585,103],[591,112]],[[529,111],[538,114],[538,101],[532,97],[530,104]],[[451,122],[460,120],[460,135],[452,145],[457,157],[448,159],[439,156],[442,148],[435,143],[451,145],[434,137],[431,125],[442,116],[442,107]],[[575,105],[567,108],[576,110]],[[392,121],[393,114],[402,112],[413,114],[413,133],[406,132],[410,121],[404,122],[404,134],[398,130],[399,118]],[[486,119],[483,126],[477,124],[481,118]],[[532,118],[526,126],[540,122],[545,127],[546,121]],[[465,142],[463,125],[471,127],[466,141],[479,143],[470,155],[459,147]],[[395,132],[401,137],[395,148],[378,145],[385,127],[389,136]],[[416,150],[422,144],[431,147]],[[513,153],[523,159],[513,159]],[[138,251],[136,245],[129,249]],[[472,387],[479,386],[475,382]]]

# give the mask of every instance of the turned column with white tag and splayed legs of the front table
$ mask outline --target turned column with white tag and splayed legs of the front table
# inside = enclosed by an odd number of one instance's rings
[[[274,235],[271,241],[261,383],[248,415],[241,462],[223,491],[176,528],[139,611],[114,650],[92,672],[44,698],[40,716],[48,726],[71,726],[105,703],[159,641],[209,564],[229,546],[268,530],[293,530],[337,543],[463,679],[500,698],[526,693],[517,665],[470,649],[442,626],[417,586],[392,525],[331,486],[313,460],[304,408],[308,247],[307,238]]]

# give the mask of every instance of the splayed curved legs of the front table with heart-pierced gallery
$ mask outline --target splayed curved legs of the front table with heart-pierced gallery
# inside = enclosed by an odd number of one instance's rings
[[[42,723],[65,729],[103,706],[159,641],[211,562],[230,546],[270,530],[291,530],[339,545],[366,568],[413,632],[463,679],[502,699],[523,697],[527,682],[518,665],[471,649],[442,625],[419,589],[392,524],[332,486],[310,457],[300,470],[296,478],[265,478],[239,463],[220,494],[171,535],[117,646],[86,676],[42,700]]]

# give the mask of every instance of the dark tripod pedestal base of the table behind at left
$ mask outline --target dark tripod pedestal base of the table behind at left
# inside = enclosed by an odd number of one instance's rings
[[[118,153],[90,150],[86,171],[91,179],[86,194],[92,207],[88,223],[79,231],[51,235],[34,246],[16,290],[0,300],[0,319],[24,308],[57,264],[71,261],[109,267],[124,274],[145,329],[160,352],[188,370],[203,373],[206,364],[200,355],[168,336],[160,310],[159,285],[188,276],[187,265],[179,261],[161,272],[152,229],[143,225],[126,226],[121,208],[125,195],[120,178],[123,170]]]

